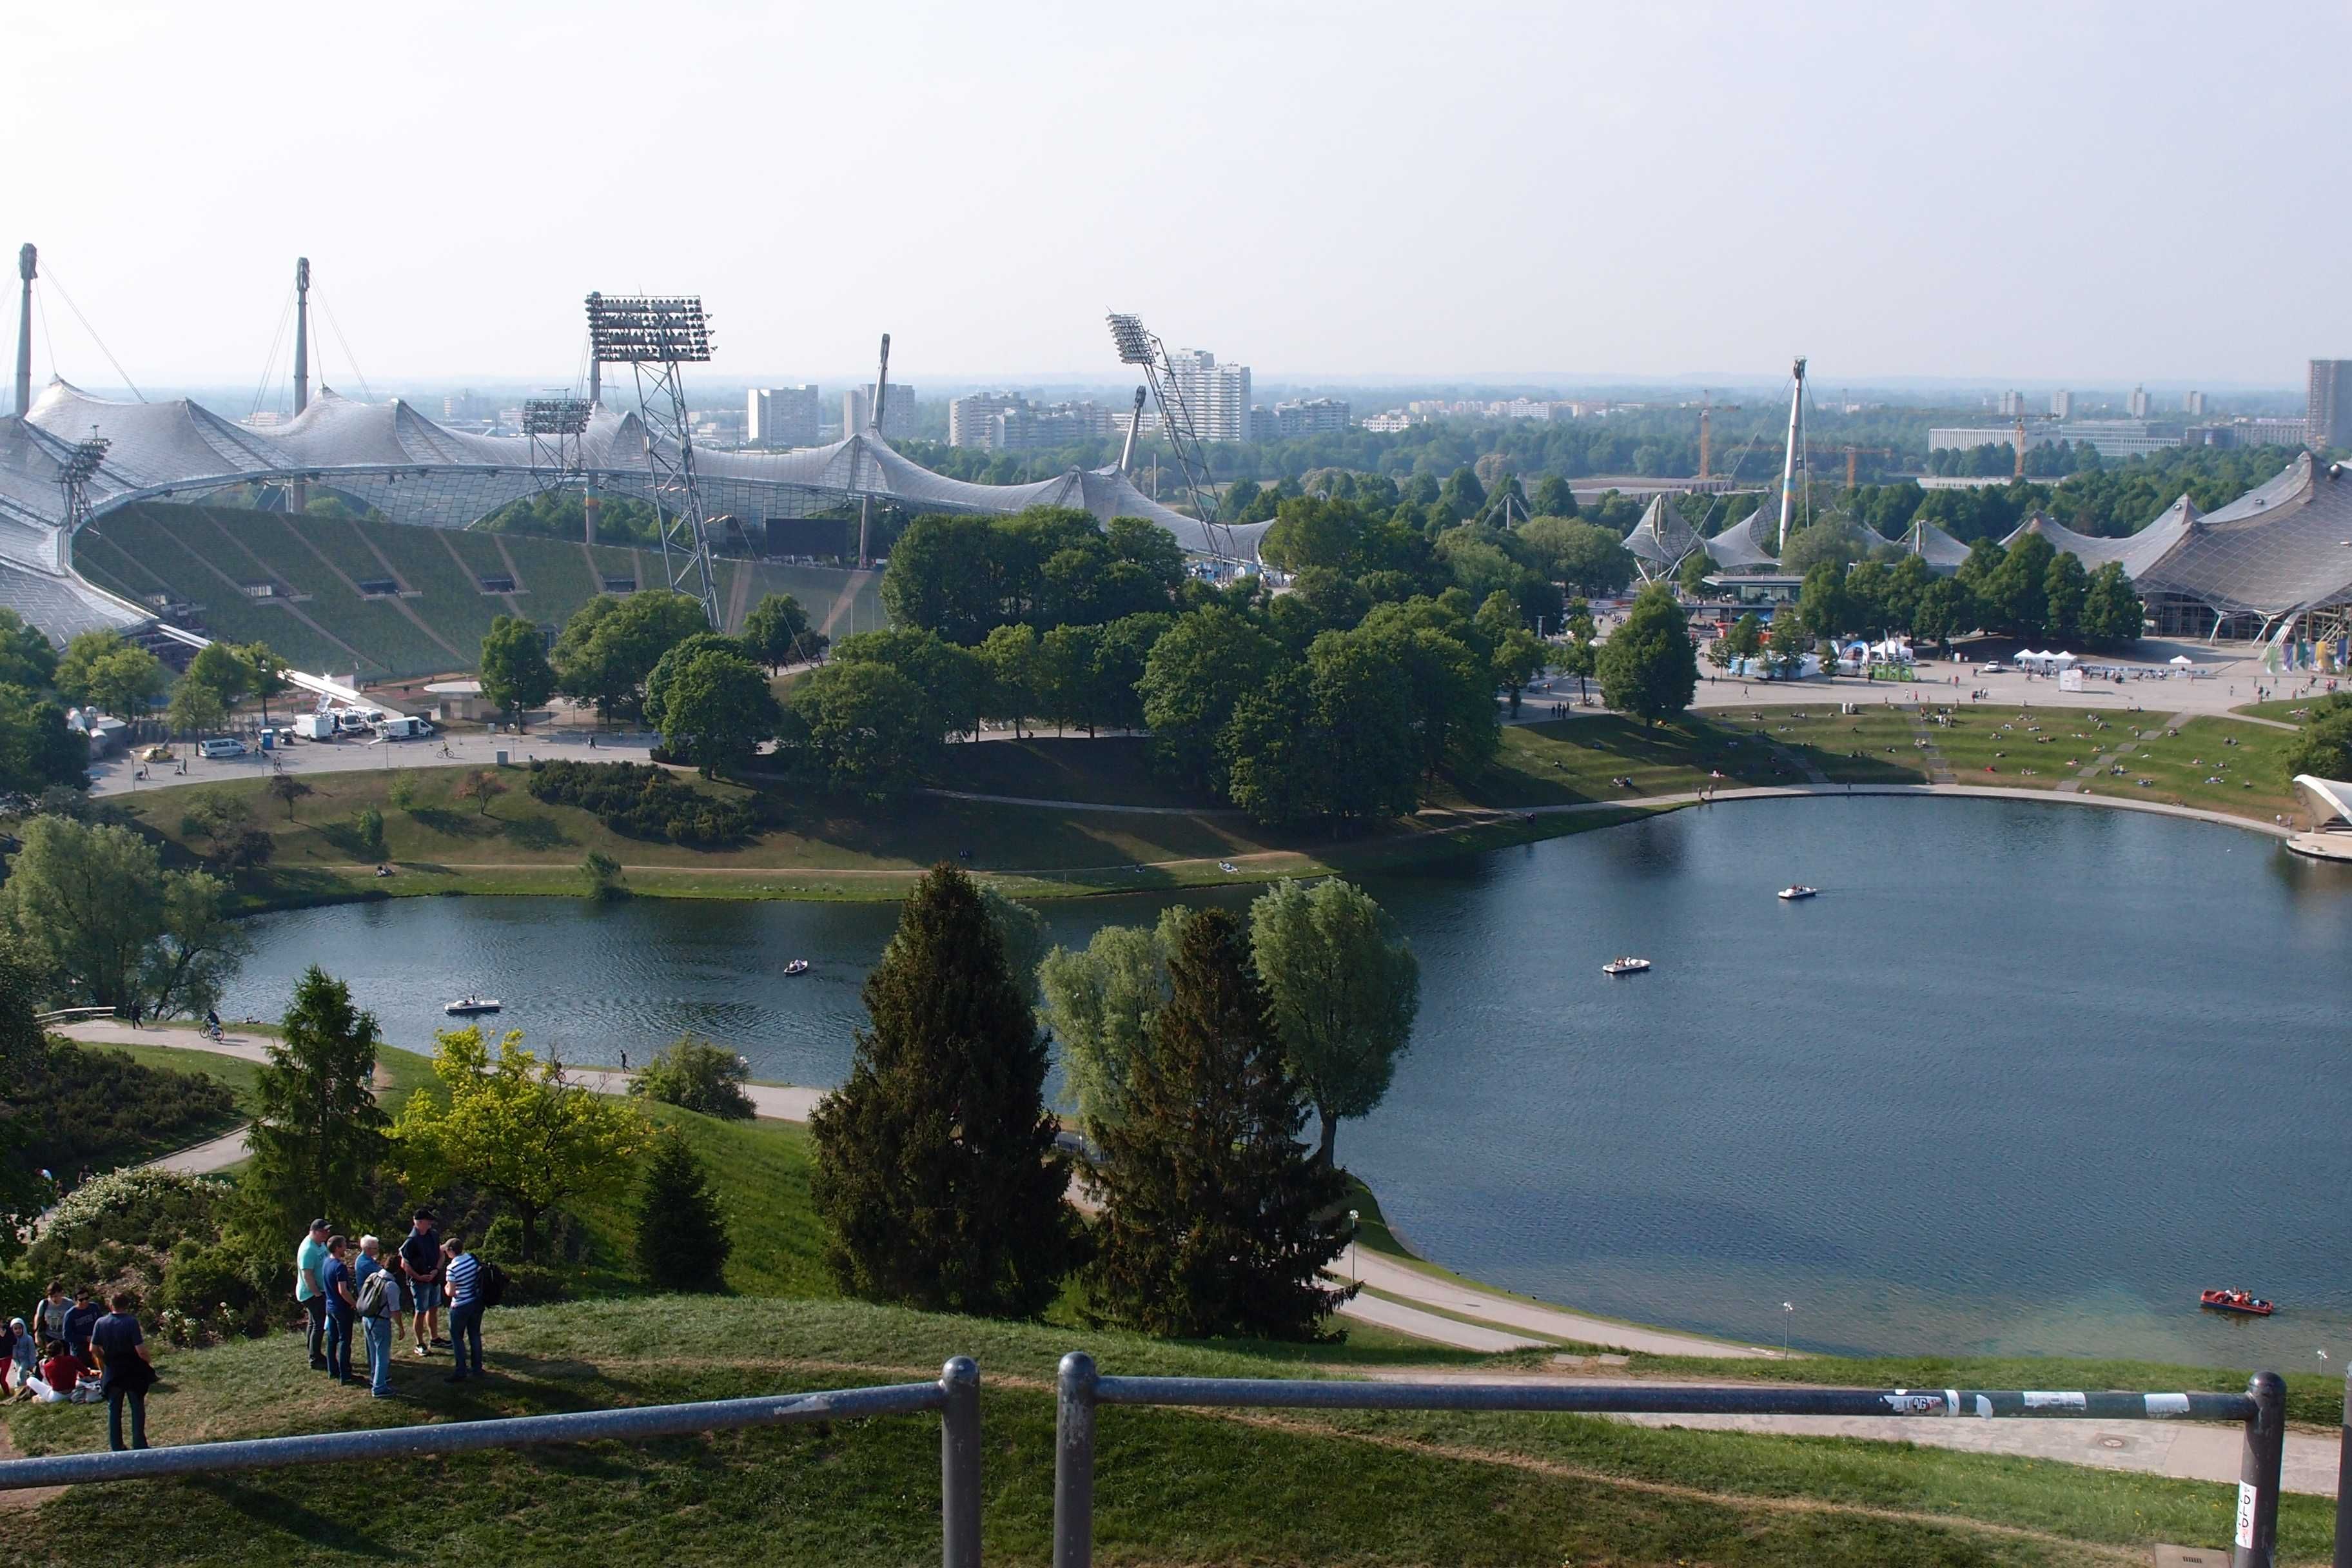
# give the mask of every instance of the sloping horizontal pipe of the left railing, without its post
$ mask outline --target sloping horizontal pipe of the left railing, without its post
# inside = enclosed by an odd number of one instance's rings
[[[731,1432],[739,1427],[786,1427],[863,1415],[913,1415],[946,1410],[943,1382],[898,1382],[873,1389],[826,1389],[816,1394],[767,1394],[760,1399],[713,1399],[701,1403],[640,1406],[635,1410],[569,1410],[562,1415],[508,1415],[499,1420],[376,1427],[369,1432],[318,1432],[263,1436],[238,1443],[181,1443],[125,1453],[59,1453],[0,1462],[0,1490],[26,1486],[80,1486],[87,1481],[143,1481],[230,1469],[285,1469],[289,1465],[339,1465],[346,1460],[414,1460],[437,1453],[522,1448],[536,1443],[642,1441]]]

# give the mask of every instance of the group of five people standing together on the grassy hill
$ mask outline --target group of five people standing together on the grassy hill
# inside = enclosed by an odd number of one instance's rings
[[[327,1220],[310,1220],[294,1251],[294,1300],[310,1319],[310,1366],[336,1382],[365,1382],[376,1399],[397,1399],[393,1345],[405,1331],[414,1331],[419,1356],[454,1352],[456,1368],[442,1382],[482,1375],[482,1262],[463,1237],[440,1234],[430,1208],[412,1215],[409,1234],[390,1253],[376,1237],[353,1246]],[[367,1378],[353,1368],[355,1331],[367,1342]]]

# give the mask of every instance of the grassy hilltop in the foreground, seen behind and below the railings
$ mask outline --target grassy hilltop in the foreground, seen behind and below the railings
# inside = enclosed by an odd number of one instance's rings
[[[308,1373],[292,1338],[167,1354],[165,1443],[983,1375],[988,1559],[1049,1549],[1051,1368],[1263,1375],[1216,1347],[920,1316],[851,1302],[661,1300],[501,1309],[494,1378],[449,1389],[402,1363],[402,1403]],[[94,1406],[16,1406],[28,1453],[103,1443]],[[1096,1540],[1105,1563],[1743,1563],[1985,1566],[2129,1561],[2145,1542],[2227,1537],[2232,1490],[1844,1439],[1644,1429],[1597,1418],[1105,1410]],[[938,1530],[929,1418],[600,1443],[235,1481],[75,1488],[0,1512],[9,1561],[68,1563],[92,1540],[155,1563],[383,1561],[416,1549],[501,1563],[910,1563]],[[2331,1505],[2288,1497],[2288,1561],[2326,1549]]]

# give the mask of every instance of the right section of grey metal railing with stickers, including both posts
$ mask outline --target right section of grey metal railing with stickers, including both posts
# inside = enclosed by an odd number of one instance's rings
[[[2347,1392],[2352,1399],[2352,1392]],[[1054,1413],[1054,1568],[1094,1563],[1094,1413],[1101,1406],[1258,1410],[1543,1410],[1583,1415],[1898,1415],[2027,1420],[2225,1420],[2246,1427],[2232,1568],[2274,1568],[2286,1382],[2260,1373],[2244,1394],[2089,1389],[1806,1389],[1541,1382],[1301,1382],[1275,1378],[1103,1378],[1094,1356],[1061,1359]],[[2352,1403],[2347,1403],[2352,1441]],[[2338,1500],[2343,1512],[2343,1500]],[[2345,1566],[2338,1535],[2338,1568]]]

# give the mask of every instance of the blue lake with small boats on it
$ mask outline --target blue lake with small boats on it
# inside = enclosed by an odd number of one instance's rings
[[[1780,903],[1788,882],[1823,889]],[[1428,1258],[1851,1352],[2352,1354],[2352,872],[2209,823],[1966,799],[1679,811],[1367,884],[1421,954],[1341,1159]],[[1204,900],[1247,903],[1247,889]],[[1164,898],[1040,905],[1061,943]],[[400,898],[266,914],[395,1044],[442,1001],[564,1060],[708,1034],[835,1084],[896,905]],[[1609,980],[1618,952],[1656,961]],[[807,957],[811,971],[783,976]],[[2281,1302],[2197,1312],[2201,1286]],[[1785,1309],[1790,1302],[1795,1309]]]

